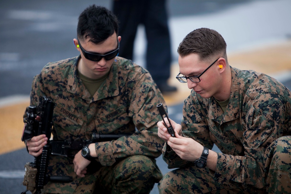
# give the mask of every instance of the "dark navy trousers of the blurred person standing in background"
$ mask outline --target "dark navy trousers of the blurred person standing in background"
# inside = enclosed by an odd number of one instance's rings
[[[119,56],[131,59],[139,24],[147,38],[146,69],[159,85],[170,77],[171,45],[165,0],[117,0],[113,12],[119,20]]]

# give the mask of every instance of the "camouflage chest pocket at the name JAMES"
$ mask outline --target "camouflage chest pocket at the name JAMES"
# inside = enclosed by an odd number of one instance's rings
[[[221,150],[222,153],[233,155],[235,152],[235,146],[233,145],[232,140],[230,138],[219,134],[216,130],[209,127],[210,130],[210,138],[217,145],[217,147]]]

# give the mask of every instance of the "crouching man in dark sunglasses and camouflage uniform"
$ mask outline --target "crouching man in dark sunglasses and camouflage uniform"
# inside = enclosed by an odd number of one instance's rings
[[[53,141],[129,134],[71,150],[72,158],[51,155],[47,174],[73,181],[49,181],[42,193],[150,193],[162,178],[155,161],[164,145],[156,106],[165,102],[147,70],[117,56],[120,40],[111,11],[90,6],[79,16],[73,40],[79,56],[49,63],[34,77],[31,105],[42,96],[55,105]],[[26,141],[33,156],[47,143],[45,135]]]

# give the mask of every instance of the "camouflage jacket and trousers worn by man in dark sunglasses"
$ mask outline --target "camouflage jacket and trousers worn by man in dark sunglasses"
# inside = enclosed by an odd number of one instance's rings
[[[106,8],[101,9],[107,12]],[[120,41],[114,32],[100,45],[83,44],[85,41],[82,45],[99,48],[111,44],[115,47],[116,38]],[[97,157],[87,166],[84,177],[74,172],[73,161],[80,155],[79,150],[74,160],[51,155],[48,175],[72,176],[73,181],[48,182],[42,193],[149,193],[162,178],[155,161],[164,145],[157,136],[156,125],[161,119],[156,106],[165,105],[162,94],[147,70],[131,60],[115,57],[107,60],[107,63],[112,61],[108,75],[105,74],[106,78],[91,95],[80,78],[78,67],[82,64],[81,70],[84,70],[81,60],[87,60],[83,52],[80,54],[49,63],[34,77],[31,105],[36,106],[43,95],[54,102],[54,140],[88,140],[93,133],[131,135],[95,143]],[[95,63],[104,61],[103,57]]]

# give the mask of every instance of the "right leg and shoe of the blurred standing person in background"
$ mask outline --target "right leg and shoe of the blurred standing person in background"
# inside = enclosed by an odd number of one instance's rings
[[[144,25],[148,40],[146,69],[162,92],[177,90],[167,84],[171,70],[171,42],[166,0],[148,0]]]

